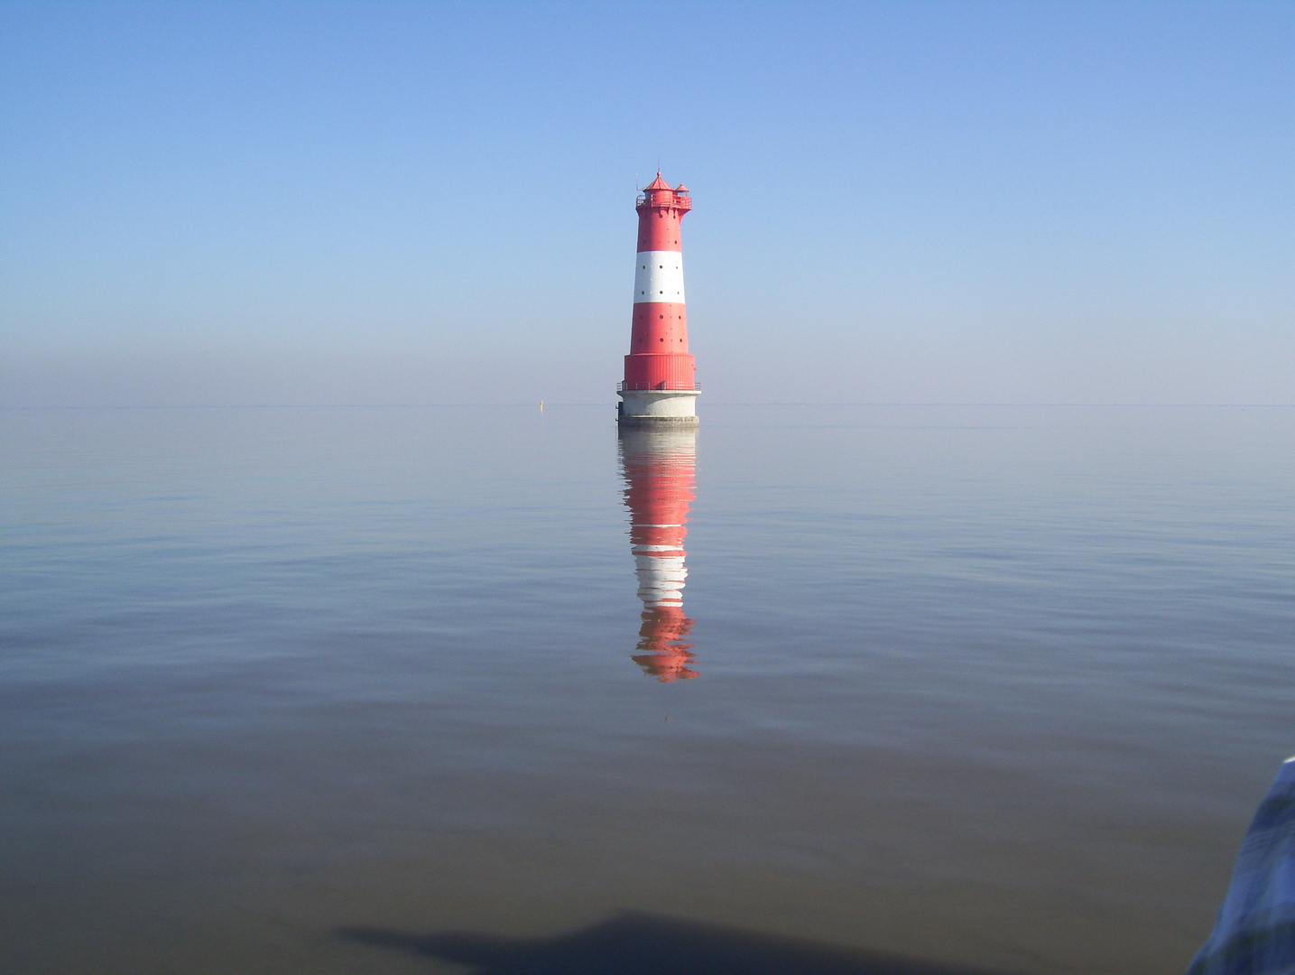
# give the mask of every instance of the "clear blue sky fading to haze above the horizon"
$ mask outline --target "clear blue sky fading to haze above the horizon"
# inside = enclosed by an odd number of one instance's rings
[[[1292,3],[0,3],[0,407],[1295,404]],[[610,408],[610,407],[609,407]]]

